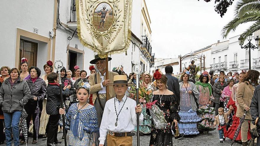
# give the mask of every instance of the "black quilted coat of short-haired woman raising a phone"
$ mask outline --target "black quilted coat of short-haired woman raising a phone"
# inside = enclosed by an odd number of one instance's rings
[[[69,96],[69,89],[62,91],[63,97]],[[46,113],[49,115],[59,114],[58,108],[61,107],[61,94],[58,85],[48,84],[47,86]]]

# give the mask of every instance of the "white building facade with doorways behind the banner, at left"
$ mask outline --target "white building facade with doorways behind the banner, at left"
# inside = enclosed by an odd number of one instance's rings
[[[67,69],[74,65],[89,74],[90,60],[95,52],[84,47],[77,37],[75,0],[6,1],[1,4],[0,40],[1,65],[19,67],[21,58],[29,60],[29,66],[37,66],[42,72],[48,60],[60,58]],[[132,5],[131,44],[126,53],[111,55],[109,70],[119,65],[125,73],[132,72],[134,63],[140,63],[143,71],[150,71],[151,20],[144,0],[134,0]],[[75,31],[76,30],[76,31]],[[74,36],[72,37],[73,33]]]

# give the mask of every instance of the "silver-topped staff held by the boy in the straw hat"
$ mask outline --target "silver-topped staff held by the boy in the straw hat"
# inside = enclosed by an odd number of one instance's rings
[[[136,63],[133,72],[136,74],[136,103],[139,104],[139,76],[141,72],[141,65]],[[137,146],[140,146],[140,131],[139,131],[139,113],[137,113]]]

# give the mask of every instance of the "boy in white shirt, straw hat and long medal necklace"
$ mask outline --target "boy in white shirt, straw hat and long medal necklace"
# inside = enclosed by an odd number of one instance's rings
[[[134,84],[127,83],[127,76],[114,76],[114,83],[107,84],[113,86],[116,96],[109,99],[104,108],[104,113],[100,125],[99,146],[103,146],[107,140],[107,146],[132,145],[134,127],[137,126],[137,114],[139,122],[142,123],[144,116],[141,113],[142,107],[136,105],[136,101],[126,97],[128,86]]]

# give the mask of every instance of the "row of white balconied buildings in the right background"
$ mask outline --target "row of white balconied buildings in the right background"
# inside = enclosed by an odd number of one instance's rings
[[[259,35],[260,32],[258,31],[255,32],[252,36],[251,43],[256,47],[257,45],[254,39]],[[251,69],[260,71],[260,48],[251,50],[251,57],[249,57],[249,50],[241,48],[241,45],[238,41],[239,37],[239,35],[231,37],[227,41],[218,41],[215,44],[196,50],[192,53],[180,55],[181,62],[179,57],[179,60],[177,60],[178,64],[173,65],[173,72],[182,72],[185,67],[187,68],[189,64],[191,64],[191,60],[195,60],[194,64],[199,68],[201,66],[200,72],[203,72],[205,69],[208,72],[214,71],[214,74],[220,74],[220,70],[225,71],[226,74],[230,71],[232,73],[240,73],[241,70],[249,70],[249,58],[251,58]],[[246,44],[248,44],[248,40],[244,42],[243,46]],[[185,58],[185,56],[189,57]],[[200,57],[202,59],[200,59]],[[155,65],[151,68],[151,70],[155,70],[156,68],[160,68],[162,70],[162,66],[165,64],[163,62],[165,60],[170,59],[156,58]],[[173,61],[170,62],[173,63]],[[178,71],[176,71],[177,69]]]

